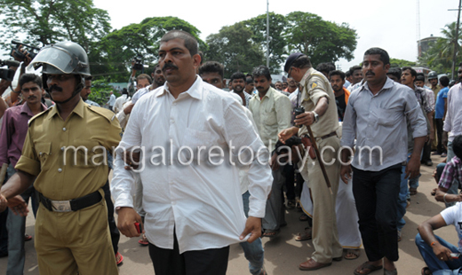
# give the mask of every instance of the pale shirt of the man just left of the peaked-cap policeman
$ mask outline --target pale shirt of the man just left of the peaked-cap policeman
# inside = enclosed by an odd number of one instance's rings
[[[273,152],[277,134],[291,127],[291,100],[269,87],[263,98],[260,99],[259,94],[251,98],[249,110],[259,130],[259,137],[269,152]]]

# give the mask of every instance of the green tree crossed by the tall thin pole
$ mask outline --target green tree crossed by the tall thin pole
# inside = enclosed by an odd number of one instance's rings
[[[281,72],[281,64],[285,60],[286,42],[283,36],[287,27],[287,20],[281,14],[269,12],[269,69],[273,74]],[[243,21],[246,27],[249,27],[253,33],[251,40],[259,44],[263,53],[267,54],[267,14],[261,14],[251,20]],[[266,63],[265,63],[266,64]]]

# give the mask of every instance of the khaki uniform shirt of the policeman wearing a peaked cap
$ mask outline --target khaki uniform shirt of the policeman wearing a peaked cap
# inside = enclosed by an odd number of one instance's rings
[[[321,138],[331,134],[339,128],[339,115],[337,113],[337,104],[331,83],[327,78],[314,68],[309,68],[300,81],[301,85],[301,106],[306,112],[314,111],[315,106],[320,98],[327,98],[329,106],[323,115],[319,116],[319,121],[311,125],[311,130],[315,138]],[[307,126],[299,130],[299,137],[308,133]]]

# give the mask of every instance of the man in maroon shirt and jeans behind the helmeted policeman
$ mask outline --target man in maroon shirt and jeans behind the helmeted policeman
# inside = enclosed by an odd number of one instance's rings
[[[28,121],[36,114],[47,109],[42,104],[42,79],[38,75],[24,74],[20,76],[20,91],[25,101],[23,105],[12,106],[4,113],[2,131],[0,135],[0,165],[8,164],[7,179],[16,173],[14,166],[20,159],[22,146],[28,134]],[[28,203],[32,199],[32,208],[36,215],[38,207],[36,201],[36,189],[28,187],[20,196]],[[8,227],[8,266],[6,273],[22,274],[26,258],[24,249],[24,232],[26,229],[26,217],[16,216],[10,211],[7,218]]]

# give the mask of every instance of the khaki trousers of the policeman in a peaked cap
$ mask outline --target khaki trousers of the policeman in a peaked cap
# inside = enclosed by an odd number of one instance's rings
[[[340,163],[338,152],[340,140],[337,137],[317,138],[316,144],[323,152],[324,167],[326,169],[329,181],[331,182],[332,194],[327,188],[323,177],[323,170],[318,160],[307,158],[305,165],[307,173],[302,172],[308,188],[311,189],[313,196],[313,246],[315,252],[311,256],[318,263],[331,263],[332,258],[343,255],[343,248],[339,243],[339,232],[337,231],[337,216],[335,214],[335,205],[337,192],[339,190]],[[332,164],[330,162],[333,162]],[[309,177],[309,179],[307,178]]]

